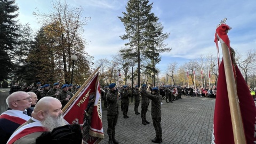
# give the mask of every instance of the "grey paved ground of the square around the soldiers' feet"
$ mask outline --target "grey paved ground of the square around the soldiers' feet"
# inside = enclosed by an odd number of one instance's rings
[[[1,113],[7,109],[5,99],[9,89],[0,89]],[[162,143],[211,143],[213,114],[215,99],[187,97],[162,105]],[[119,110],[119,117],[116,126],[116,139],[119,143],[153,143],[151,139],[155,137],[155,130],[151,119],[151,103],[148,107],[147,120],[150,124],[141,124],[140,115],[134,114],[134,105],[129,105],[127,115],[123,118],[122,111]],[[141,106],[139,106],[139,112]],[[100,143],[108,142],[107,135],[107,110],[102,110],[103,130],[105,139]]]

